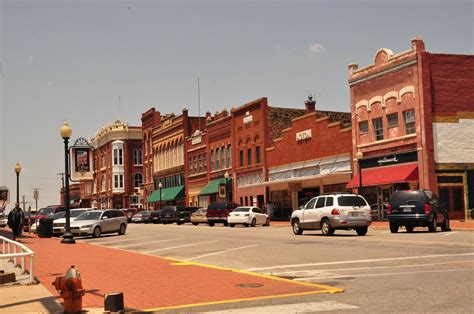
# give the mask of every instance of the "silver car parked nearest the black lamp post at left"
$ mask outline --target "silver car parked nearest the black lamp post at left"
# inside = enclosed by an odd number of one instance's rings
[[[91,210],[80,214],[71,222],[71,232],[74,235],[92,235],[100,237],[103,233],[118,232],[124,235],[127,230],[127,216],[119,209]]]

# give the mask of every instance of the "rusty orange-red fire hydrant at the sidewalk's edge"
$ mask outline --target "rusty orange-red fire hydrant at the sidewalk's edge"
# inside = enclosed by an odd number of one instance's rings
[[[64,313],[78,313],[82,311],[82,297],[85,290],[82,288],[79,270],[71,266],[65,276],[56,277],[52,283],[64,299]]]

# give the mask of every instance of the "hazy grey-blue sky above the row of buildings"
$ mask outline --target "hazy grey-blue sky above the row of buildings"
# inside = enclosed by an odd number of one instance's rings
[[[379,48],[473,54],[473,1],[0,0],[0,186],[59,204],[64,120],[72,140],[151,107],[198,115],[260,97],[350,111],[350,63]],[[120,97],[120,102],[119,102]],[[13,203],[7,205],[7,211]],[[1,207],[2,204],[0,204]],[[26,205],[28,207],[28,204]]]

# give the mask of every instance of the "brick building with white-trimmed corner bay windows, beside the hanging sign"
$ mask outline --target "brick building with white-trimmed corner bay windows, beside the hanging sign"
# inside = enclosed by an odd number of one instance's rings
[[[143,183],[142,130],[119,120],[102,127],[91,139],[94,148],[92,206],[140,206]]]

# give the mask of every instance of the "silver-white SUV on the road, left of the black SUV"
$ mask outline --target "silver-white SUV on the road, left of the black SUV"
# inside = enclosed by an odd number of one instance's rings
[[[355,194],[320,195],[291,214],[293,233],[297,235],[303,230],[321,229],[323,235],[329,236],[336,229],[354,229],[363,236],[371,223],[370,206]]]

